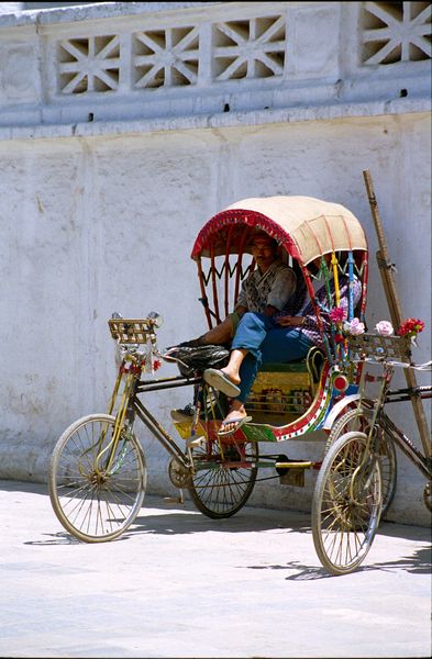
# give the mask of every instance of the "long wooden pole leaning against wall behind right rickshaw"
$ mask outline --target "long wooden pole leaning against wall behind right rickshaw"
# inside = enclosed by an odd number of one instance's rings
[[[379,216],[378,203],[375,198],[374,186],[372,182],[370,174],[367,169],[363,171],[363,177],[365,179],[367,197],[369,199],[369,205],[372,211],[372,216],[374,219],[375,230],[378,237],[379,252],[377,252],[377,263],[379,268],[379,273],[381,276],[384,291],[387,298],[388,309],[390,311],[391,322],[395,328],[398,328],[400,324],[403,322],[402,310],[400,306],[400,301],[398,298],[398,292],[396,290],[396,281],[395,281],[395,267],[390,263],[386,238],[384,235],[381,219]],[[423,445],[424,455],[430,458],[432,455],[431,447],[431,437],[429,433],[428,422],[423,410],[423,403],[420,398],[416,393],[417,389],[417,378],[416,373],[411,368],[403,369],[405,377],[407,380],[408,387],[412,390],[410,393],[412,409],[416,415],[417,425],[420,433],[420,438]]]

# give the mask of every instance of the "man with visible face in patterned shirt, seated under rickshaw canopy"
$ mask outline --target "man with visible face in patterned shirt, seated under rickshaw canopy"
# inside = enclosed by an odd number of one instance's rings
[[[235,328],[247,311],[273,316],[285,308],[296,290],[297,277],[292,268],[280,260],[277,242],[264,231],[256,231],[251,252],[257,267],[243,281],[234,312],[206,334],[184,342],[181,346],[231,344]]]

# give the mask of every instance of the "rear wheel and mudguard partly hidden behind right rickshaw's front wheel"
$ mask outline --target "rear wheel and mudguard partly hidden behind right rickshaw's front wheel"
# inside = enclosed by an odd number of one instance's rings
[[[356,407],[354,410],[348,410],[342,416],[340,416],[333,425],[328,437],[325,454],[328,453],[330,446],[345,433],[359,431],[367,434],[372,415],[373,410],[368,410],[367,407],[362,407],[362,410],[358,410]],[[379,424],[377,424],[377,429],[380,433],[379,459],[381,465],[383,485],[381,518],[384,518],[395,498],[398,468],[395,442],[392,440],[391,436],[386,433],[383,426]]]

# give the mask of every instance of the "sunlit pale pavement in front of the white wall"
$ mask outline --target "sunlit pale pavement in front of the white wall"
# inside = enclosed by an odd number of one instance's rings
[[[147,496],[119,539],[67,534],[43,484],[0,481],[1,657],[430,657],[430,530],[384,523],[331,577],[310,515],[212,521]]]

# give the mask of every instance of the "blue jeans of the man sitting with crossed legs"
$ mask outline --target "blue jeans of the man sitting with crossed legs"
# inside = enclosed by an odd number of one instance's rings
[[[299,328],[280,327],[264,313],[247,312],[240,321],[231,349],[245,349],[240,367],[240,395],[246,402],[259,367],[270,361],[293,361],[306,357],[313,343]]]

